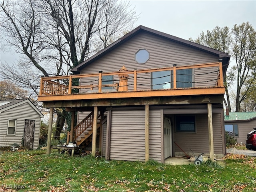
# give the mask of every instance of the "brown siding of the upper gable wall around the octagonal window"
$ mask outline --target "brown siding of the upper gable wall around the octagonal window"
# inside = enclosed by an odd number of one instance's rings
[[[139,49],[146,49],[150,52],[150,59],[145,64],[138,64],[134,60],[135,53]],[[86,66],[80,74],[88,73],[98,73],[103,72],[114,72],[119,71],[120,68],[125,65],[127,70],[138,69],[149,69],[149,68],[164,68],[170,67],[173,64],[177,66],[192,65],[192,64],[203,64],[218,62],[218,56],[213,56],[206,52],[196,50],[182,44],[178,44],[152,34],[141,32],[137,36],[131,38],[128,42],[120,45],[114,51],[109,52],[107,55],[102,56],[94,63]],[[212,68],[206,68],[205,70],[196,69],[195,73],[207,73],[212,71]],[[215,69],[214,69],[215,70]],[[150,78],[151,74],[140,74],[142,77]],[[133,84],[133,76],[129,76],[128,84]],[[195,80],[212,80],[211,75],[202,75]],[[93,78],[92,80],[95,80]],[[87,80],[88,82],[89,80]],[[82,80],[82,82],[84,82]],[[96,81],[97,82],[97,81]],[[88,84],[98,84],[97,83],[86,83]],[[118,78],[115,77],[115,82],[118,82]],[[138,78],[138,84],[149,85],[151,83],[150,79]],[[208,82],[206,84],[196,84],[196,86],[210,86],[216,84],[214,82]],[[150,86],[138,85],[138,89],[149,89]],[[130,88],[131,89],[131,88]]]

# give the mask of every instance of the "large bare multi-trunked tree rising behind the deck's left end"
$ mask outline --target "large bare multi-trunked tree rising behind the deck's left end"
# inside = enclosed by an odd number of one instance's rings
[[[19,64],[5,64],[7,70],[0,72],[35,94],[41,75],[67,75],[122,30],[129,30],[137,18],[129,3],[117,0],[3,0],[0,6],[4,46],[23,55]],[[67,112],[56,112],[60,132]]]

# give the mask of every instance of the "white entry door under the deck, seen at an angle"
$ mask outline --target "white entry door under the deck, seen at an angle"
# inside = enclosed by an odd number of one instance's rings
[[[164,118],[164,158],[172,156],[172,124],[169,118]]]

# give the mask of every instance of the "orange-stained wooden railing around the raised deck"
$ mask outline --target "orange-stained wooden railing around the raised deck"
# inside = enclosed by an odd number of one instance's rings
[[[177,71],[185,69],[192,69],[194,71],[193,74],[190,74],[193,76],[193,81],[184,81],[183,83],[185,84],[193,84],[192,87],[223,87],[222,62],[216,62],[208,64],[195,64],[190,66],[173,65],[168,68],[144,70],[134,69],[124,72],[99,72],[95,74],[42,77],[39,96],[119,92],[120,86],[127,86],[127,91],[155,90],[155,88],[153,88],[154,84],[152,84],[153,78],[151,73],[164,71],[170,71],[171,78],[170,82],[162,83],[166,85],[166,87],[162,89],[180,89],[181,87],[177,87],[177,84],[181,82],[177,80],[177,76],[180,75],[177,73]],[[110,84],[102,83],[104,82],[105,76],[113,76],[112,80],[107,81],[111,82]],[[127,76],[127,83],[120,85],[120,77],[124,76]],[[78,80],[79,85],[74,84],[74,82],[78,82]],[[211,82],[211,86],[207,86],[207,83],[209,82]]]

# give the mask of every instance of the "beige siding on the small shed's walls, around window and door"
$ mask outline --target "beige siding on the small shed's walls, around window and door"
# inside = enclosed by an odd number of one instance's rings
[[[16,120],[15,135],[7,135],[8,119]],[[41,117],[28,103],[21,104],[0,114],[0,146],[11,146],[14,143],[22,144],[25,120],[35,120],[33,149],[38,148]]]

